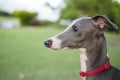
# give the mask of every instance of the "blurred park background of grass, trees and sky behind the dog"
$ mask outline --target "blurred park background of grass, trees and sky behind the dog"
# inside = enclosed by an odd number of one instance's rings
[[[104,14],[120,28],[120,0],[0,0],[0,80],[80,80],[79,51],[54,51],[44,40],[80,16]],[[105,32],[120,69],[120,33]]]

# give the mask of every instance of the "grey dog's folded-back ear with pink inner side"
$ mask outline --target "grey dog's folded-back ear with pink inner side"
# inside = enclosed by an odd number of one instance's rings
[[[118,30],[118,26],[111,22],[109,18],[105,15],[97,15],[92,17],[95,23],[98,25],[98,28],[104,30],[107,26]]]

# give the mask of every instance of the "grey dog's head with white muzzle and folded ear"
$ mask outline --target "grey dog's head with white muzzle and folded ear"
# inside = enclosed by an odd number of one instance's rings
[[[45,46],[55,50],[86,48],[96,43],[109,26],[118,29],[105,15],[81,17],[72,22],[63,32],[45,41]]]

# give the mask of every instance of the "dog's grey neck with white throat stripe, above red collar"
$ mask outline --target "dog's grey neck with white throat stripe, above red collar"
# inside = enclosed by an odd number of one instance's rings
[[[91,46],[79,49],[81,71],[87,72],[94,70],[109,61],[104,35]],[[89,78],[83,77],[83,80],[89,80]]]

